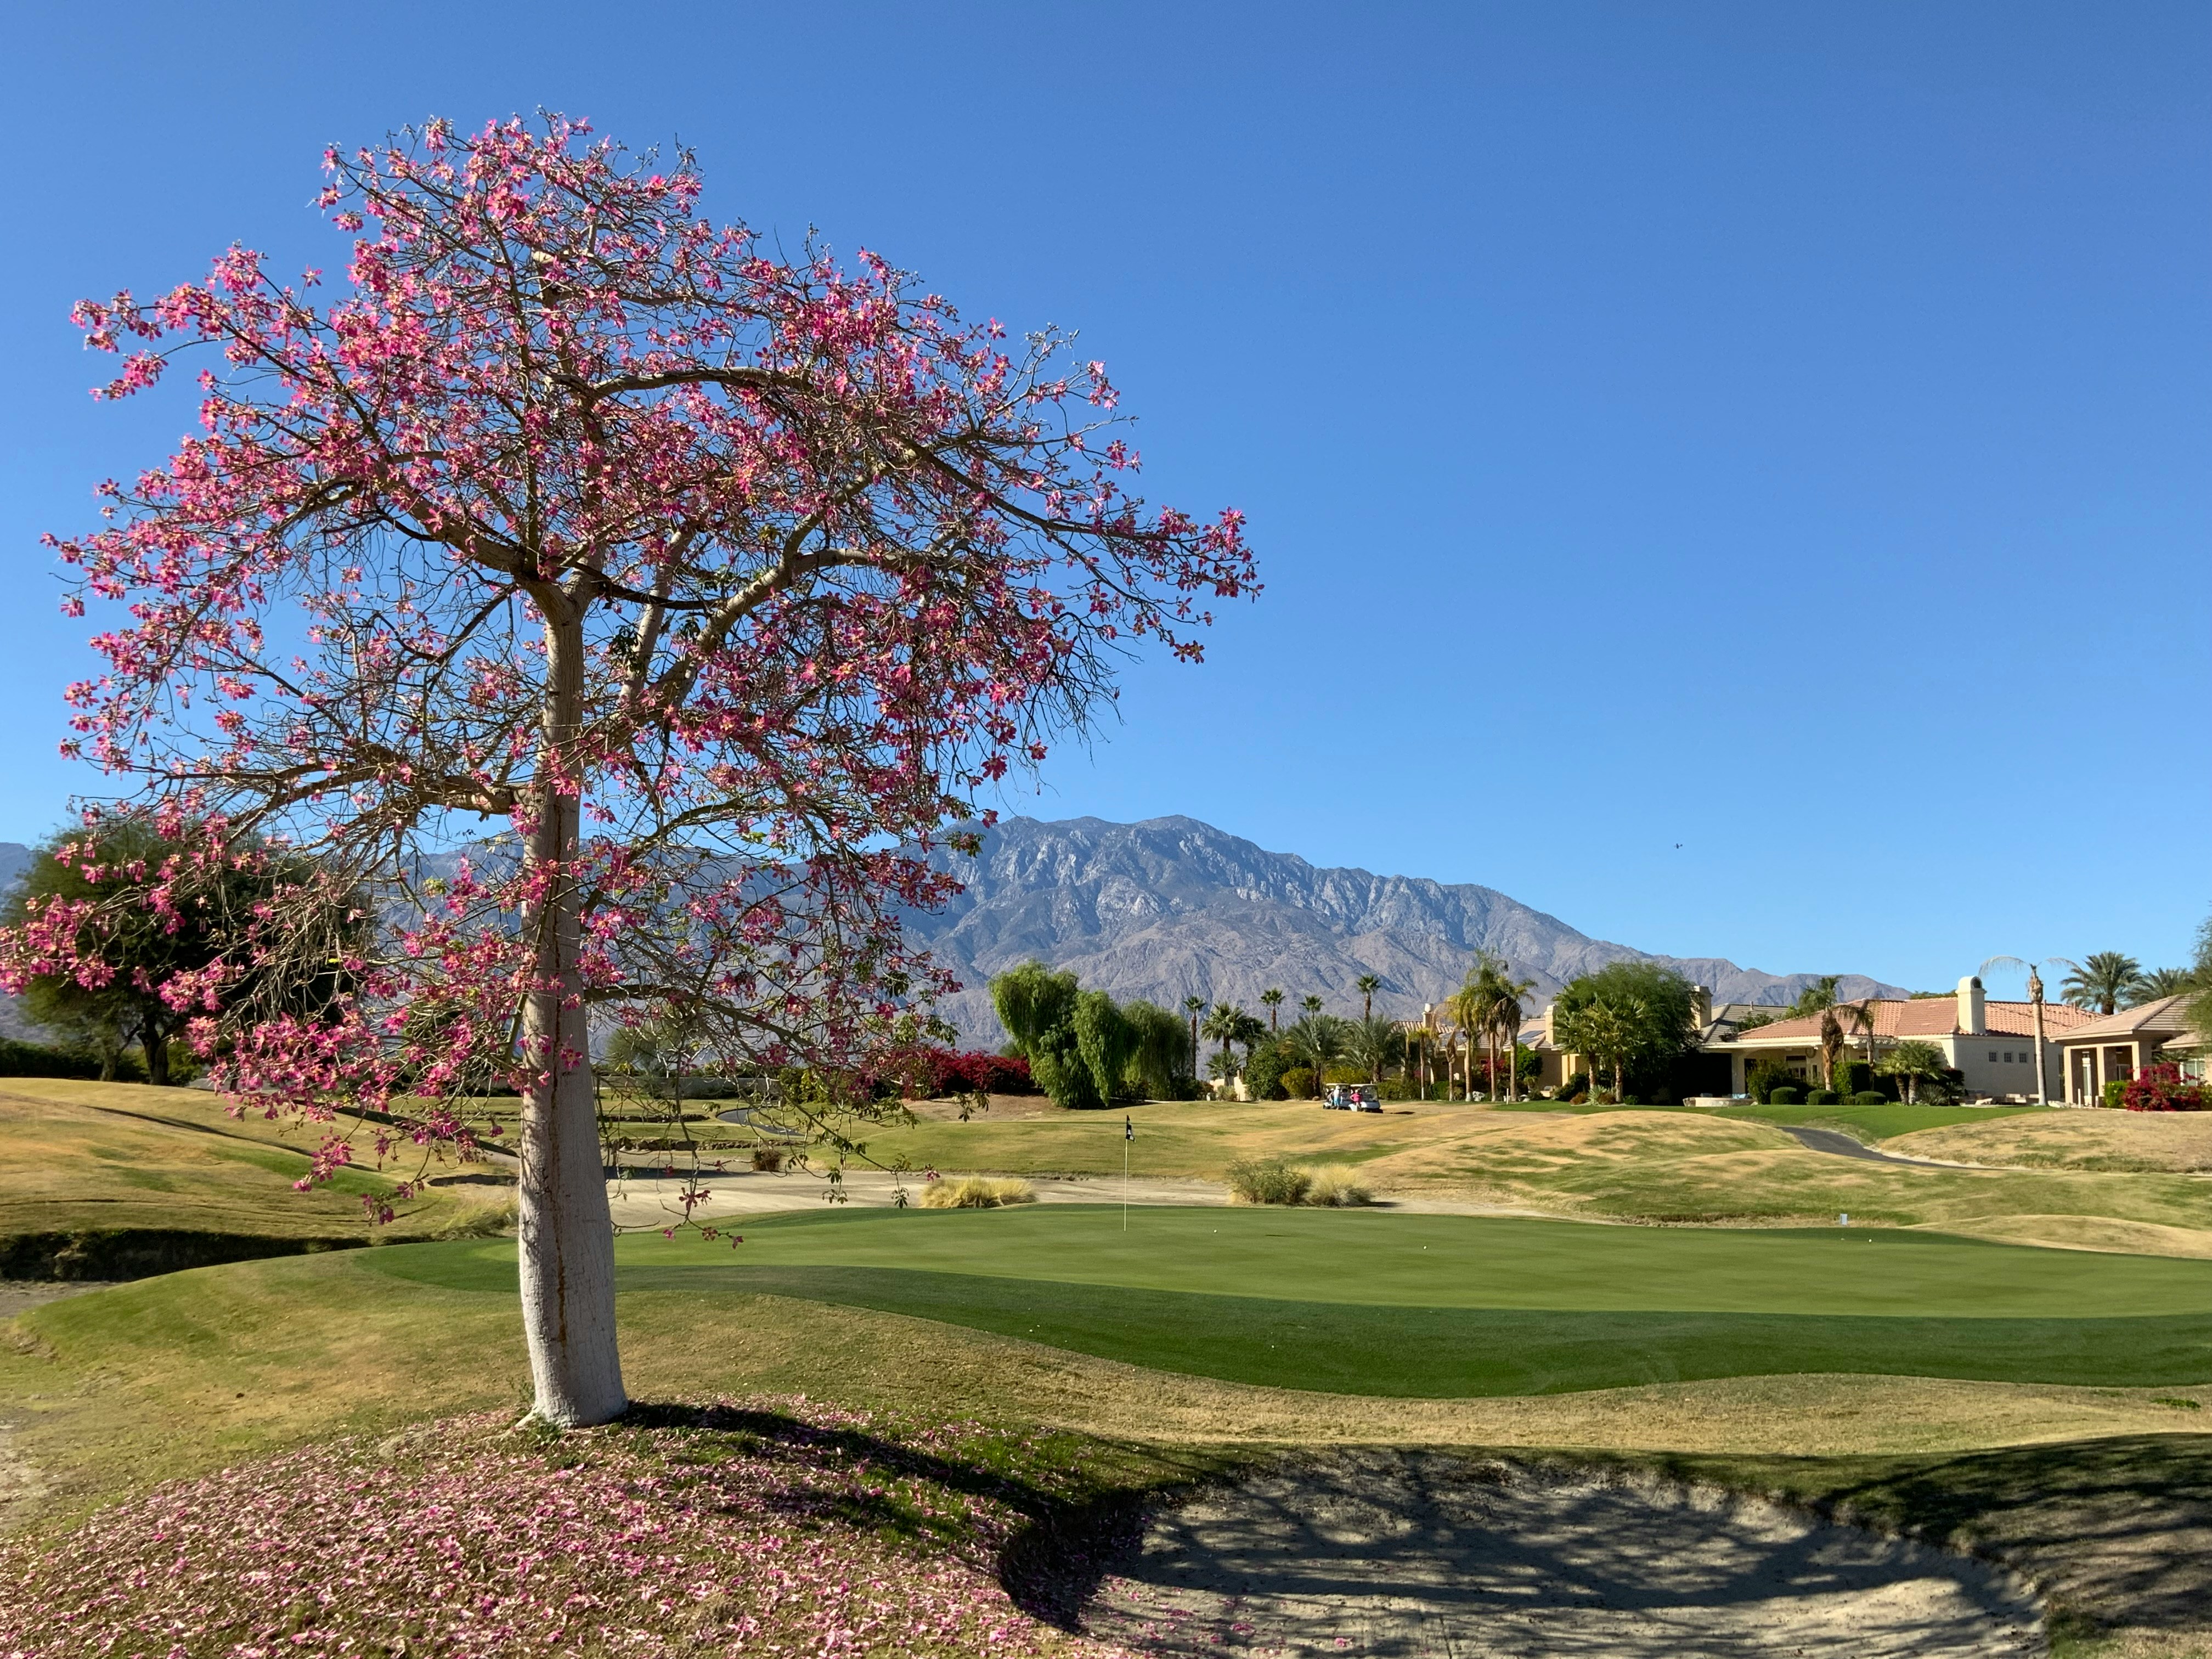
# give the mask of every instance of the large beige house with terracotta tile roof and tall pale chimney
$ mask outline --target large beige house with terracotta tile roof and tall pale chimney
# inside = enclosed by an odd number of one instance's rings
[[[2042,1066],[2037,1068],[2035,1006],[2033,1002],[1991,1002],[1982,995],[1982,982],[1966,975],[1958,991],[1947,998],[1874,998],[1867,1004],[1874,1015],[1874,1048],[1896,1042],[1927,1042],[1944,1053],[1944,1064],[1958,1068],[1966,1079],[1966,1095],[1982,1099],[2037,1099],[2042,1088],[2059,1082],[2062,1033],[2084,1026],[2097,1015],[2064,1002],[2042,1004],[2044,1042]],[[1858,1022],[1843,1018],[1847,1053],[1867,1055],[1867,1037]],[[1750,1093],[1747,1071],[1761,1060],[1783,1060],[1792,1073],[1801,1073],[1807,1084],[1820,1082],[1820,1015],[1798,1015],[1774,1024],[1752,1026],[1734,1035],[1710,1037],[1708,1055],[1730,1057],[1730,1093]]]

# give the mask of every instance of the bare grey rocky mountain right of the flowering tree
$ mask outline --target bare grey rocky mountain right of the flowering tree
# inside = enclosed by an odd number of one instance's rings
[[[1004,1033],[987,980],[1029,958],[1124,1000],[1179,1009],[1201,998],[1254,1013],[1267,987],[1287,991],[1292,1006],[1312,993],[1334,1013],[1358,1013],[1356,982],[1374,973],[1376,1013],[1396,1018],[1451,995],[1482,949],[1535,980],[1531,1006],[1606,962],[1679,969],[1714,1002],[1785,1004],[1818,978],[1637,951],[1493,887],[1323,869],[1197,818],[1006,818],[984,834],[980,858],[940,858],[967,891],[907,927],[967,984],[942,1004],[945,1018],[993,1048]],[[1847,973],[1840,991],[1907,995],[1860,973]]]

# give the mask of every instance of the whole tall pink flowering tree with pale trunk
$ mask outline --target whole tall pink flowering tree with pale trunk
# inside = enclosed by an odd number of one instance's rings
[[[1254,591],[1237,513],[1130,493],[1066,336],[1009,345],[874,254],[772,257],[699,217],[688,155],[586,133],[332,150],[332,299],[232,248],[80,305],[122,356],[95,396],[204,354],[199,431],[53,542],[71,615],[126,606],[66,748],[186,843],[153,907],[270,847],[314,872],[161,987],[217,1086],[367,1117],[380,1152],[465,1139],[487,1077],[522,1093],[560,1425],[626,1405],[593,1031],[827,1079],[911,1046],[949,978],[898,914],[956,891],[931,854],[971,849],[975,792],[1121,650],[1194,659],[1206,604]],[[380,896],[374,942],[352,894]],[[7,975],[73,971],[100,920],[27,918]],[[343,995],[296,993],[334,971]],[[321,1164],[354,1155],[332,1133]]]

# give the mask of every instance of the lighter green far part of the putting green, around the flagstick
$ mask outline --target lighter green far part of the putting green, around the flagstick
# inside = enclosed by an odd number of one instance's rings
[[[1867,1314],[1944,1318],[2212,1316],[2212,1261],[2035,1250],[1924,1232],[1601,1228],[1509,1217],[1332,1210],[814,1210],[728,1223],[745,1243],[628,1237],[639,1274],[905,1267],[1053,1285],[1394,1307]],[[498,1250],[498,1245],[495,1245]],[[502,1256],[504,1259],[504,1256]],[[411,1265],[420,1261],[420,1265]],[[462,1256],[392,1256],[451,1283]],[[502,1274],[511,1270],[500,1270]],[[708,1281],[655,1279],[666,1287]]]

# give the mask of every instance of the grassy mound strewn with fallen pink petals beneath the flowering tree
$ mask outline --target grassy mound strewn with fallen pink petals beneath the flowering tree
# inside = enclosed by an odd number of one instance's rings
[[[750,1409],[544,1440],[458,1418],[164,1486],[0,1548],[0,1655],[1117,1652],[1000,1586],[1000,1436]]]

